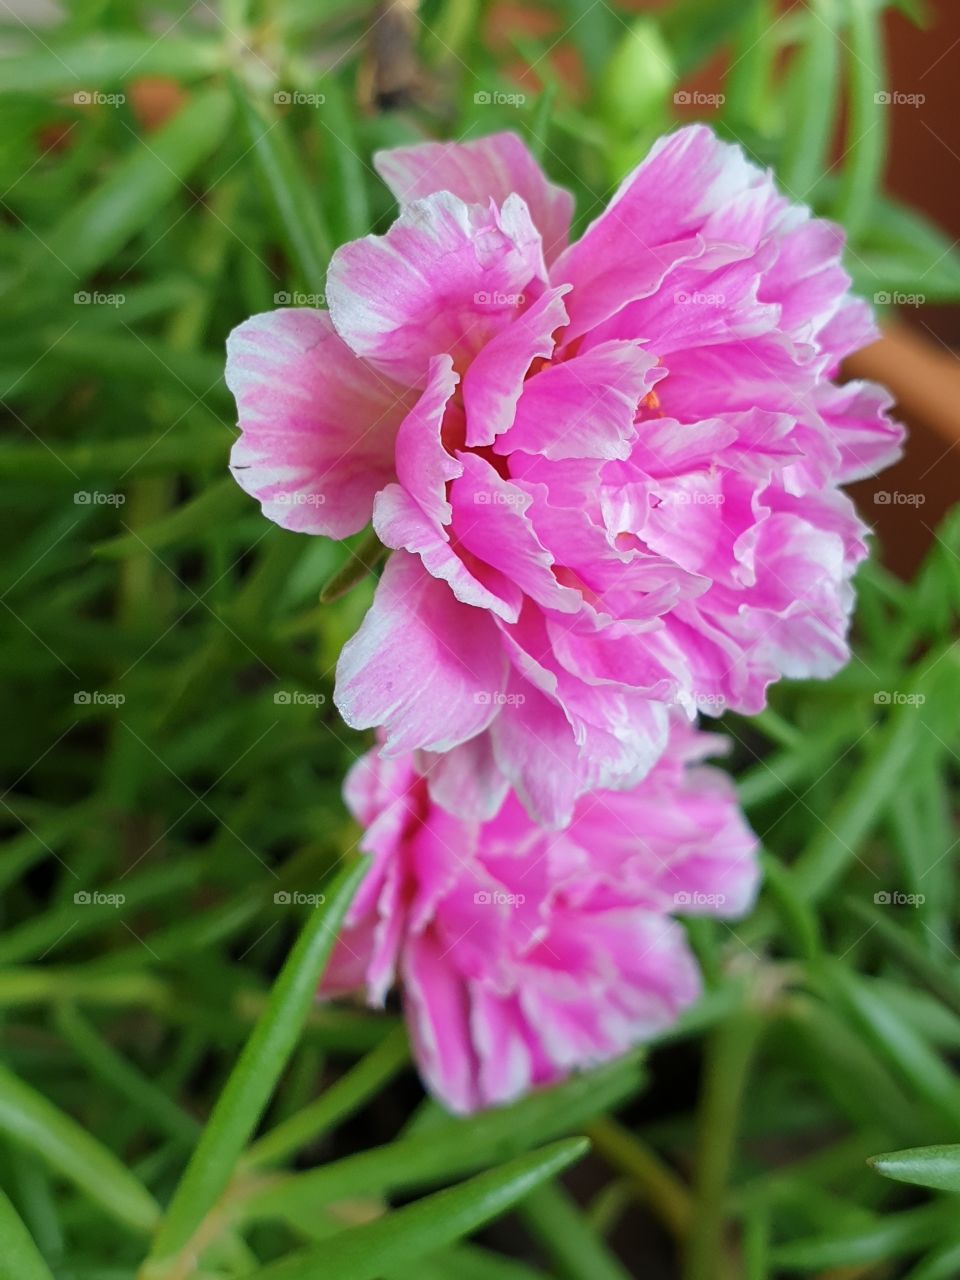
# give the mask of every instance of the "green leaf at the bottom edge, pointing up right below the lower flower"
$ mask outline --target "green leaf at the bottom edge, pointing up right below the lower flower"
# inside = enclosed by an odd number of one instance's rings
[[[351,1228],[266,1267],[259,1280],[378,1280],[384,1271],[434,1253],[512,1208],[589,1149],[568,1138],[428,1196],[376,1222]]]

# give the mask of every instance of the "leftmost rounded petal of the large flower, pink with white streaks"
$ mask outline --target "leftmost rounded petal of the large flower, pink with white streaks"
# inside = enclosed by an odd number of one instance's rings
[[[264,515],[307,534],[347,538],[393,479],[406,393],[357,360],[325,311],[251,316],[227,342],[237,399],[234,479]]]

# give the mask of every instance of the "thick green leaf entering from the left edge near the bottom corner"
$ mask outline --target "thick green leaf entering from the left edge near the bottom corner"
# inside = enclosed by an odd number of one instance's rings
[[[4,1066],[0,1133],[41,1156],[123,1226],[148,1231],[156,1224],[154,1198],[113,1152]]]

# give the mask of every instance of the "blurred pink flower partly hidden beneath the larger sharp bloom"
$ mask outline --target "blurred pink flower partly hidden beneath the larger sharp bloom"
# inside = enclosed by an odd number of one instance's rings
[[[669,913],[744,914],[756,841],[713,740],[682,722],[632,791],[582,797],[562,832],[509,796],[489,822],[430,799],[408,756],[346,786],[374,865],[324,983],[383,1004],[399,982],[416,1059],[453,1111],[507,1102],[669,1027],[700,978]]]

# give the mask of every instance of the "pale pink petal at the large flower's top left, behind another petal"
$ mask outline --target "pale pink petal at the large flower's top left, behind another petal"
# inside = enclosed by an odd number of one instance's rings
[[[573,198],[548,182],[526,143],[516,133],[492,133],[474,142],[421,142],[378,151],[374,168],[397,197],[408,205],[435,191],[452,191],[468,204],[497,204],[512,192],[526,202],[552,261],[567,243]]]

